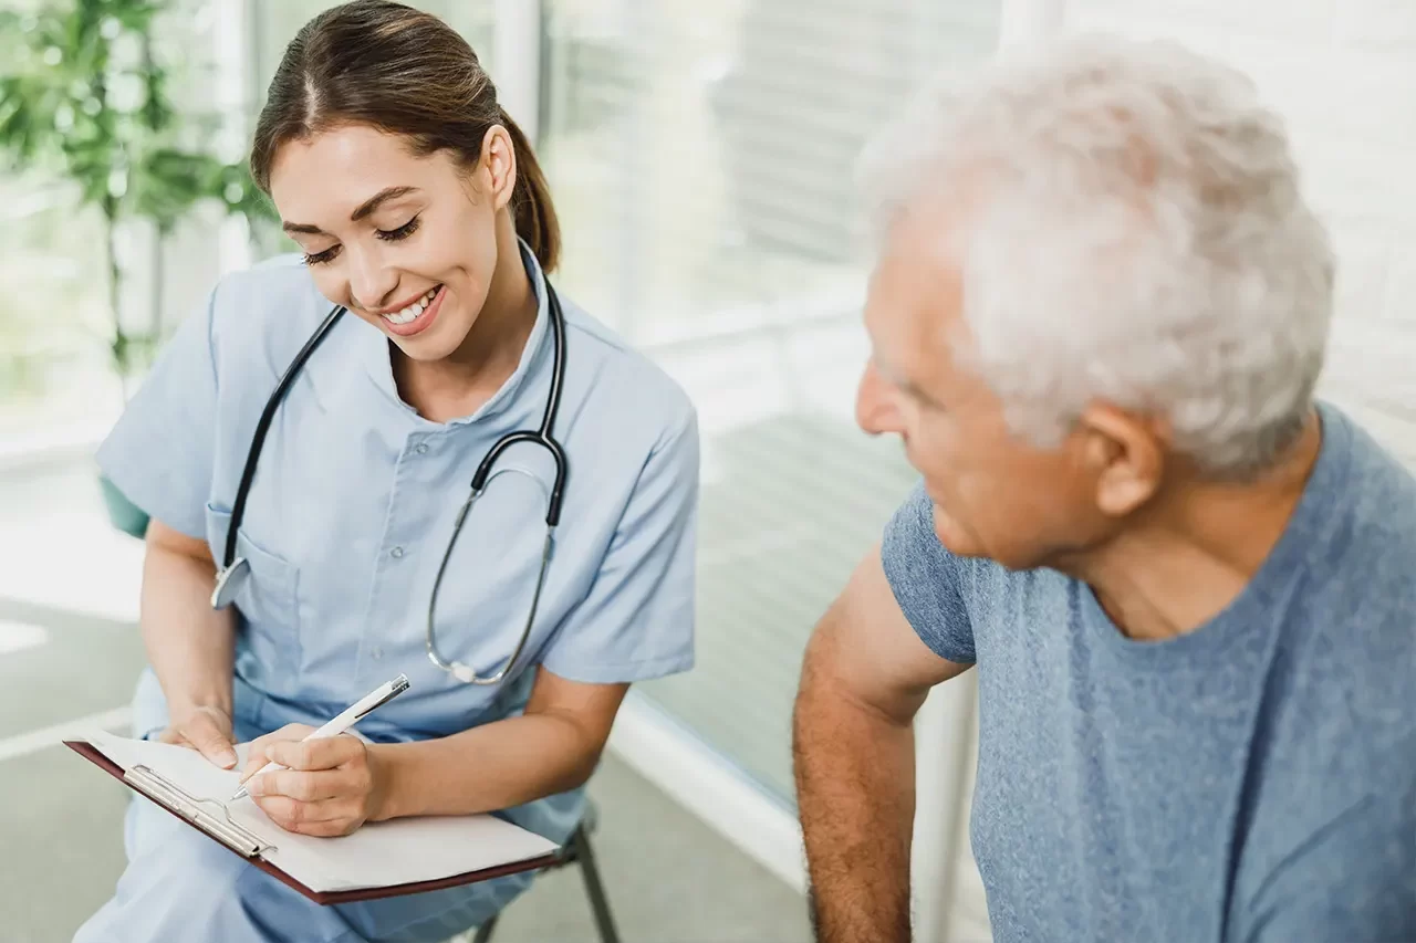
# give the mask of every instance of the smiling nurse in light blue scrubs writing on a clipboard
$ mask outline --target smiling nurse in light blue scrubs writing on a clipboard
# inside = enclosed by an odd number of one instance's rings
[[[137,735],[232,766],[280,825],[312,835],[419,814],[497,811],[555,841],[583,807],[633,681],[692,664],[698,435],[683,391],[568,299],[551,429],[568,476],[525,644],[554,491],[537,430],[552,395],[558,228],[527,139],[438,18],[361,0],[312,20],[269,89],[252,168],[303,255],[212,289],[99,452],[153,522],[142,588],[150,668]],[[259,453],[234,605],[211,605],[235,496]],[[450,554],[447,552],[452,544]],[[438,586],[429,658],[429,602]],[[412,687],[358,736],[295,750],[399,673]],[[462,675],[462,677],[457,677]],[[443,940],[531,878],[321,908],[152,803],[82,943]]]

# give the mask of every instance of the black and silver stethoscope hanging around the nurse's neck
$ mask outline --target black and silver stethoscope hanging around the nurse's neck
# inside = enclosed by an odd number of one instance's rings
[[[534,430],[521,429],[501,436],[493,443],[486,457],[483,457],[481,464],[477,466],[476,474],[472,476],[472,493],[457,511],[457,520],[453,525],[452,538],[447,541],[447,549],[443,552],[442,564],[438,566],[438,578],[433,581],[432,598],[428,600],[428,631],[425,639],[428,658],[443,671],[450,673],[455,678],[467,684],[498,684],[507,677],[507,671],[511,670],[511,665],[515,664],[517,658],[521,657],[521,650],[531,637],[531,626],[535,623],[537,606],[541,602],[541,589],[545,586],[545,571],[551,562],[551,547],[555,537],[555,525],[561,520],[561,496],[565,490],[568,462],[565,457],[565,449],[562,449],[561,443],[551,435],[551,428],[555,425],[555,413],[561,405],[561,385],[565,379],[565,314],[561,312],[561,299],[556,297],[555,289],[551,287],[549,282],[545,283],[545,295],[551,312],[551,333],[555,341],[555,353],[554,360],[551,361],[551,391],[547,394],[545,412],[541,416],[541,428]],[[310,354],[314,353],[324,337],[330,333],[330,328],[334,327],[334,324],[344,316],[346,310],[347,309],[343,304],[336,304],[330,309],[324,321],[314,330],[310,340],[304,341],[304,347],[302,347],[300,353],[295,355],[295,360],[290,361],[285,375],[280,377],[280,382],[276,384],[275,392],[270,394],[270,398],[266,401],[265,409],[261,411],[261,421],[256,423],[255,436],[252,436],[251,440],[251,449],[246,452],[246,464],[241,471],[241,483],[236,486],[236,500],[231,507],[231,528],[227,531],[225,552],[222,555],[221,569],[217,571],[217,585],[211,592],[211,605],[214,609],[225,609],[229,606],[251,578],[251,564],[246,562],[245,556],[236,555],[236,532],[241,528],[241,518],[245,515],[246,497],[251,494],[251,483],[256,474],[256,463],[261,459],[261,449],[265,445],[266,432],[270,429],[270,419],[275,416],[275,411],[279,408],[280,401],[285,399],[286,392],[289,392],[290,387],[295,384],[295,379],[304,367],[304,362],[310,358]],[[541,446],[551,453],[552,459],[555,459],[555,483],[551,487],[551,493],[547,496],[545,544],[541,549],[541,572],[535,581],[535,593],[531,596],[531,613],[527,616],[525,627],[521,630],[521,639],[511,651],[511,657],[507,658],[507,663],[496,674],[490,677],[479,677],[470,665],[446,658],[438,650],[438,639],[433,629],[433,615],[438,607],[438,589],[442,586],[442,578],[447,569],[447,561],[452,558],[452,548],[457,542],[457,535],[462,532],[462,525],[467,520],[467,513],[472,510],[472,505],[477,501],[477,498],[483,496],[491,479],[496,477],[496,474],[500,474],[500,471],[493,471],[497,457],[518,442]],[[520,471],[520,469],[504,470]],[[521,473],[528,474],[525,471]],[[537,484],[541,484],[542,490],[545,488],[539,479],[530,474],[528,477],[535,480]]]

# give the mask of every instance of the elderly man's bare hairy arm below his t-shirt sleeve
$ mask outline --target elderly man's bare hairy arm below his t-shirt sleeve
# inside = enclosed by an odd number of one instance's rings
[[[906,943],[913,718],[967,664],[930,651],[875,548],[807,643],[793,758],[820,943]]]

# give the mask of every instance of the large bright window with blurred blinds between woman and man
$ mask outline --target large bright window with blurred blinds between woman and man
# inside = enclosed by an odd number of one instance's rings
[[[641,685],[786,801],[807,634],[915,481],[854,425],[855,156],[998,3],[549,0],[541,157],[565,292],[702,419],[698,667]]]

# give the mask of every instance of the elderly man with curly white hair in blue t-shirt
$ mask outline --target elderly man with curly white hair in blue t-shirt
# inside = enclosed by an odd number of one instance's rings
[[[1314,399],[1279,119],[1072,41],[930,93],[865,184],[858,421],[923,481],[801,674],[818,937],[909,939],[910,719],[977,665],[997,940],[1416,940],[1416,481]]]

